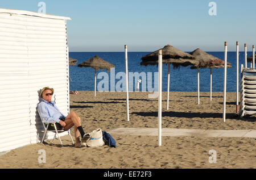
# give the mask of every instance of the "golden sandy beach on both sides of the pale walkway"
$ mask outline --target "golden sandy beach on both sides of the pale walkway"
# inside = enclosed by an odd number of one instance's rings
[[[70,95],[70,108],[82,119],[86,132],[101,128],[110,131],[123,127],[158,127],[158,99],[149,99],[148,92],[129,93],[130,122],[126,120],[126,93],[79,91]],[[185,129],[256,129],[255,116],[240,118],[236,113],[236,93],[226,95],[226,122],[223,122],[223,93],[170,92],[166,110],[163,92],[163,128]],[[73,131],[72,131],[73,135]],[[64,147],[53,144],[32,144],[0,156],[0,168],[256,168],[255,139],[247,137],[162,137],[117,135],[112,137],[117,148],[75,148],[68,136]],[[49,141],[47,141],[49,143]],[[46,150],[46,163],[38,162],[38,150]],[[217,162],[210,164],[209,150],[217,152]]]

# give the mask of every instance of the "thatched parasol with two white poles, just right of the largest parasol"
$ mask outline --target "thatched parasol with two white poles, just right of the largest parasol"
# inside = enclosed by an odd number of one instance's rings
[[[197,69],[197,96],[199,104],[199,68],[210,68],[210,101],[212,101],[212,68],[224,68],[224,61],[220,58],[209,55],[208,53],[197,48],[195,51],[189,53],[196,57],[197,64],[193,65],[191,69]],[[227,68],[232,68],[230,62],[227,62]]]

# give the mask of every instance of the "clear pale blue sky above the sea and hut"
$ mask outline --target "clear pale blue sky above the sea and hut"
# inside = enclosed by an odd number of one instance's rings
[[[3,1],[1,8],[37,12],[40,1]],[[240,50],[256,45],[255,0],[44,0],[46,14],[68,16],[69,51]],[[216,16],[209,15],[216,2]]]

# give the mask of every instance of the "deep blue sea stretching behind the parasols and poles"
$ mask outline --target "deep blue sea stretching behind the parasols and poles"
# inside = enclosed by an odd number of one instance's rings
[[[140,65],[141,58],[145,55],[148,55],[151,52],[127,52],[128,59],[128,71],[133,74],[146,74],[146,78],[142,79],[143,81],[147,81],[143,86],[147,86],[146,91],[152,91],[152,88],[155,86],[155,73],[158,72],[157,65]],[[189,52],[187,52],[189,53]],[[221,60],[224,60],[224,52],[207,52],[210,55],[216,56]],[[251,56],[252,52],[247,52],[247,57]],[[94,69],[87,67],[79,67],[80,63],[92,58],[93,56],[99,56],[102,59],[112,63],[115,65],[114,71],[107,72],[104,70],[97,70],[97,91],[104,88],[105,91],[120,91],[120,88],[117,87],[125,87],[125,78],[123,76],[119,77],[118,74],[125,73],[125,52],[69,52],[69,57],[75,58],[77,60],[76,65],[69,66],[69,90],[71,91],[94,91]],[[241,64],[245,63],[245,52],[239,53],[239,81],[240,81],[240,71]],[[232,68],[227,68],[226,70],[226,91],[227,92],[236,92],[236,52],[228,52],[228,62],[231,63]],[[247,67],[250,67],[250,63],[247,63]],[[163,73],[162,73],[162,91],[167,91],[167,72],[168,66],[163,64]],[[170,91],[187,91],[193,92],[197,91],[197,69],[190,69],[191,66],[174,69],[172,65],[170,65]],[[200,72],[200,91],[201,92],[209,92],[210,91],[210,69],[204,68],[199,69]],[[108,76],[102,76],[102,74]],[[152,82],[150,81],[150,74],[152,77]],[[114,76],[114,77],[113,77]],[[135,91],[137,87],[137,80],[135,77],[129,77],[129,91]],[[111,86],[111,78],[114,79],[114,85],[112,80]],[[123,79],[122,79],[123,78]],[[104,83],[105,81],[109,81],[109,83]],[[157,81],[156,81],[157,82]],[[116,85],[116,86],[115,86]],[[118,86],[117,86],[118,85]],[[139,84],[139,91],[145,91],[142,89],[142,83]],[[148,88],[149,87],[149,88]],[[157,86],[156,86],[157,87]],[[114,88],[114,89],[113,89]],[[239,83],[240,88],[240,83]],[[213,92],[222,92],[224,89],[224,68],[212,69],[212,91]],[[123,89],[121,89],[123,90]],[[157,89],[156,89],[157,91]],[[240,90],[239,90],[240,91]]]

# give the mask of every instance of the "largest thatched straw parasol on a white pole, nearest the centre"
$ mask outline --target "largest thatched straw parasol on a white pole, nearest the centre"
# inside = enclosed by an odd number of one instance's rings
[[[146,56],[143,56],[141,58],[142,60],[141,65],[144,65],[144,66],[158,65],[159,50],[152,52]],[[174,68],[178,68],[180,66],[195,65],[196,60],[194,56],[189,55],[186,52],[180,51],[180,49],[177,49],[170,44],[166,45],[161,50],[162,50],[162,63],[168,64],[168,77],[167,77],[167,110],[168,110],[169,89],[170,89],[170,64],[172,64]]]

